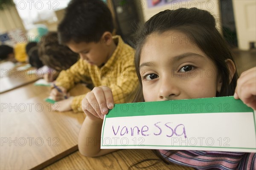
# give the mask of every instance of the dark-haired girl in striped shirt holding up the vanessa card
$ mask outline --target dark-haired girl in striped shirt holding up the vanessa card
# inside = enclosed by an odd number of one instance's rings
[[[164,101],[234,95],[256,109],[256,68],[238,80],[233,57],[209,12],[192,8],[160,12],[138,32],[135,66],[140,81],[136,101]],[[101,156],[102,119],[113,108],[108,87],[96,87],[82,101],[87,117],[79,133],[79,150]],[[158,150],[165,161],[196,169],[256,169],[254,153]]]

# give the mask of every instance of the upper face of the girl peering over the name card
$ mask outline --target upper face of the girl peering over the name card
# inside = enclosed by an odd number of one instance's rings
[[[221,89],[214,63],[177,31],[151,34],[140,58],[145,101],[215,97]]]

